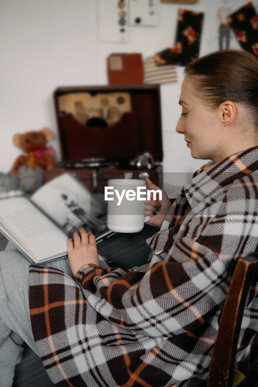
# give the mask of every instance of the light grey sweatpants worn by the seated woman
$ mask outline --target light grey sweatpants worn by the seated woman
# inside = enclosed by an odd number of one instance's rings
[[[29,265],[32,263],[8,243],[0,252],[0,387],[10,387],[15,364],[22,360],[24,341],[37,353],[29,315]],[[68,259],[44,264],[72,275]]]

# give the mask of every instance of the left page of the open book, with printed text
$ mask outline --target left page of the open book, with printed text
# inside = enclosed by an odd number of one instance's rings
[[[23,197],[0,200],[0,228],[35,262],[67,253],[67,236]]]

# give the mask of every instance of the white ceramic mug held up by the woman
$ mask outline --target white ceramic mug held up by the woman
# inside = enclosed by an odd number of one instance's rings
[[[105,187],[105,200],[108,198],[108,228],[120,233],[141,231],[144,226],[145,194],[144,180],[108,180],[108,187]]]

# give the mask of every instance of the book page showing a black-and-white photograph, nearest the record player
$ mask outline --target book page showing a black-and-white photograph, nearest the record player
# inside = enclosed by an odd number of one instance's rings
[[[64,173],[39,188],[31,202],[42,209],[67,235],[80,226],[104,230],[106,207],[70,173]]]

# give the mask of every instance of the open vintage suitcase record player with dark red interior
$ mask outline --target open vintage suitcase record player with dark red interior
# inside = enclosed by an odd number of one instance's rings
[[[111,178],[162,187],[159,85],[58,87],[53,97],[62,160],[45,182],[69,171],[95,192]],[[139,162],[144,153],[153,163]]]

